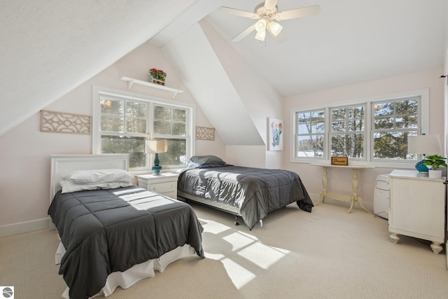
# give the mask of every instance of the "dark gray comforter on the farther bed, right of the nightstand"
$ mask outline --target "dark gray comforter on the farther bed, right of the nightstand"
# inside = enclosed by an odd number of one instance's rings
[[[308,212],[313,207],[299,175],[283,169],[232,165],[186,169],[179,176],[178,190],[237,207],[249,230],[267,213],[291,202]]]

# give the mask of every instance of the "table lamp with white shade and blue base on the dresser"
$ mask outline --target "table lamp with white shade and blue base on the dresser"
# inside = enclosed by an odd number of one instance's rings
[[[421,134],[407,137],[407,153],[423,155],[423,160],[415,164],[415,169],[420,172],[421,176],[428,176],[428,167],[423,165],[425,155],[435,155],[441,152],[439,135]]]

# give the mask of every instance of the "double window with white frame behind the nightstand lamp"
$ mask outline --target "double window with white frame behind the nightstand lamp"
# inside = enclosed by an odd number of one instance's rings
[[[147,139],[168,141],[160,153],[164,168],[185,167],[193,155],[192,106],[123,92],[94,89],[93,153],[129,153],[130,170],[148,170],[153,155],[146,154]]]

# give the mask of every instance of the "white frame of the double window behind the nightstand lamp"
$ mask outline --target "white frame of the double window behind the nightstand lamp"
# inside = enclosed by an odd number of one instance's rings
[[[125,92],[122,90],[113,90],[109,88],[102,88],[99,86],[93,87],[92,92],[92,153],[93,154],[101,154],[101,104],[100,104],[100,98],[102,95],[109,96],[109,97],[116,97],[116,98],[122,98],[122,99],[128,99],[128,100],[135,100],[139,102],[147,102],[148,103],[148,111],[147,111],[147,127],[148,132],[147,134],[143,134],[144,136],[148,137],[148,139],[155,139],[160,138],[160,135],[154,134],[153,132],[153,109],[155,105],[158,106],[165,106],[170,107],[174,109],[185,109],[187,111],[186,115],[186,123],[188,125],[186,136],[185,137],[179,137],[179,136],[172,136],[172,139],[186,139],[186,164],[185,165],[167,165],[164,169],[180,169],[183,167],[186,167],[188,164],[188,161],[190,158],[195,155],[195,105],[183,103],[183,102],[177,102],[174,100],[169,99],[162,99],[158,97],[151,97],[147,95],[140,95],[135,94],[132,92]],[[151,123],[151,124],[150,124]],[[142,134],[140,134],[142,135]],[[134,136],[137,136],[137,134],[134,134]],[[168,137],[167,137],[168,138]],[[146,157],[146,167],[139,167],[130,169],[130,172],[132,174],[145,174],[148,172],[151,172],[151,167],[153,166],[153,154],[148,155]]]

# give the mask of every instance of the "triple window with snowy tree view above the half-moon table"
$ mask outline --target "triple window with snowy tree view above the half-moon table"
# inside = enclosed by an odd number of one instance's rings
[[[416,155],[407,154],[407,137],[428,132],[428,90],[291,112],[292,162],[345,156],[354,164],[413,166]]]

